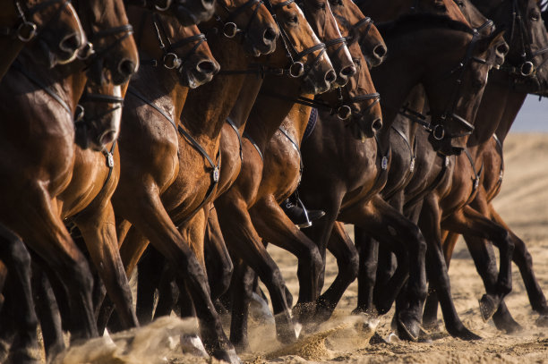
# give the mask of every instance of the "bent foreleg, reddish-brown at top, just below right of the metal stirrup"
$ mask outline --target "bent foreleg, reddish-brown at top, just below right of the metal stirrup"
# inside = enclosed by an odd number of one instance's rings
[[[327,291],[316,301],[315,322],[327,321],[348,286],[358,274],[359,256],[354,243],[345,231],[345,225],[335,223],[328,241],[328,250],[337,258],[338,274]]]

